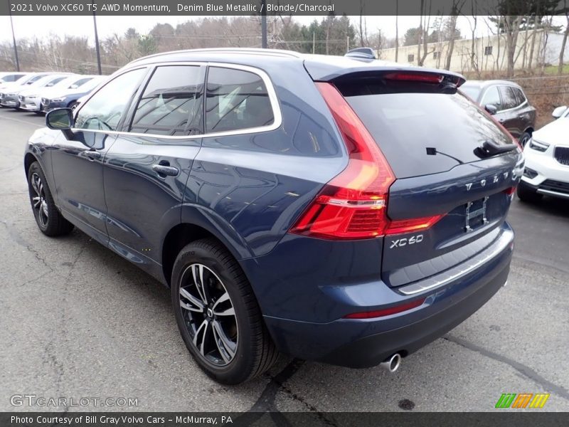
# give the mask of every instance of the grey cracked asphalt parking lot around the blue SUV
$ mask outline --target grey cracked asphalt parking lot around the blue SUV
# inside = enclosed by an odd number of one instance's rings
[[[184,347],[166,288],[80,231],[38,231],[23,149],[42,125],[0,110],[0,411],[58,410],[12,406],[23,394],[138,399],[71,411],[495,411],[502,393],[550,393],[542,410],[569,410],[569,201],[514,199],[508,285],[395,374],[283,357],[220,386]]]

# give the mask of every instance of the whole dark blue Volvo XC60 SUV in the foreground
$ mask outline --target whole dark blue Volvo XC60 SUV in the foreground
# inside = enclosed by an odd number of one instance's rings
[[[509,273],[523,156],[462,83],[361,53],[135,60],[29,140],[33,214],[169,286],[220,382],[279,352],[394,370]]]

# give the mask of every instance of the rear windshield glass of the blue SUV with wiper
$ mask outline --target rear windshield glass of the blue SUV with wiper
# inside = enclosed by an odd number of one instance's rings
[[[506,132],[456,90],[420,93],[420,85],[415,86],[409,92],[382,85],[339,86],[398,178],[477,162],[476,148],[485,141],[511,144]]]

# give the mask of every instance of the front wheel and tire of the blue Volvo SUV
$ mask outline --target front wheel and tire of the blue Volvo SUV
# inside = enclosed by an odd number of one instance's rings
[[[64,236],[73,230],[73,224],[63,218],[55,206],[48,181],[38,162],[33,162],[28,170],[28,191],[33,216],[43,234]]]

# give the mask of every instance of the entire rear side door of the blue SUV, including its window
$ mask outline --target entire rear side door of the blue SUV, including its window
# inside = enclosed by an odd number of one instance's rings
[[[154,275],[201,147],[205,78],[200,65],[156,67],[105,159],[110,246]]]

